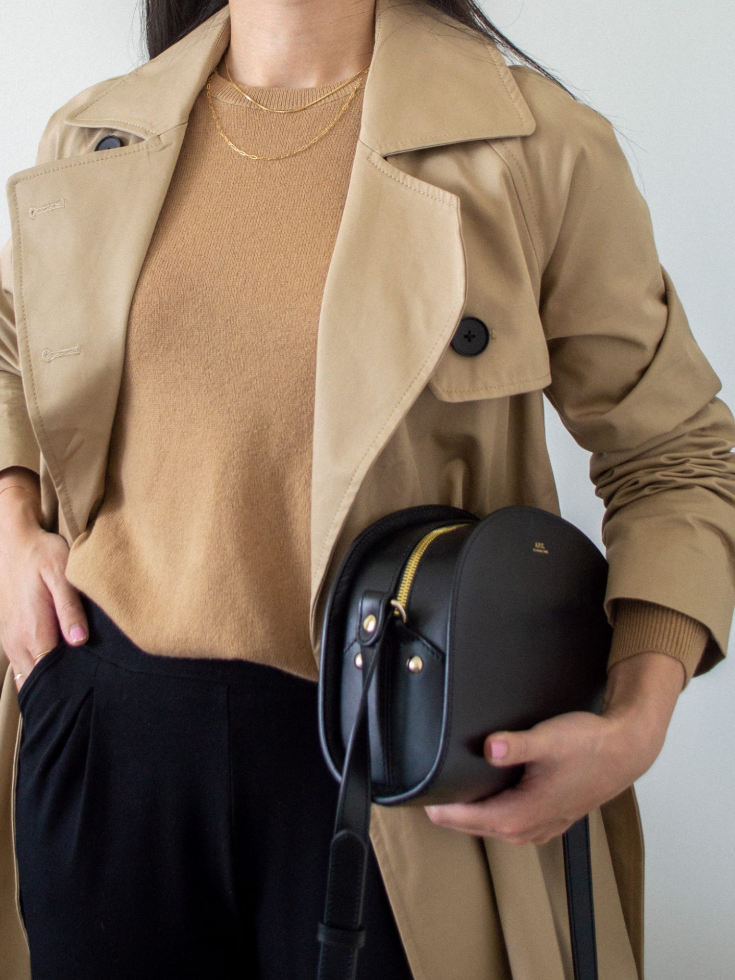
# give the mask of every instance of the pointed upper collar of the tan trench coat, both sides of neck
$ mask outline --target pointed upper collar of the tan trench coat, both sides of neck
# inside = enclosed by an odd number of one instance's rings
[[[535,122],[493,41],[427,4],[376,0],[360,139],[385,157],[463,140],[528,135]],[[147,137],[186,123],[229,44],[229,7],[65,120]],[[469,57],[459,57],[461,53]]]

